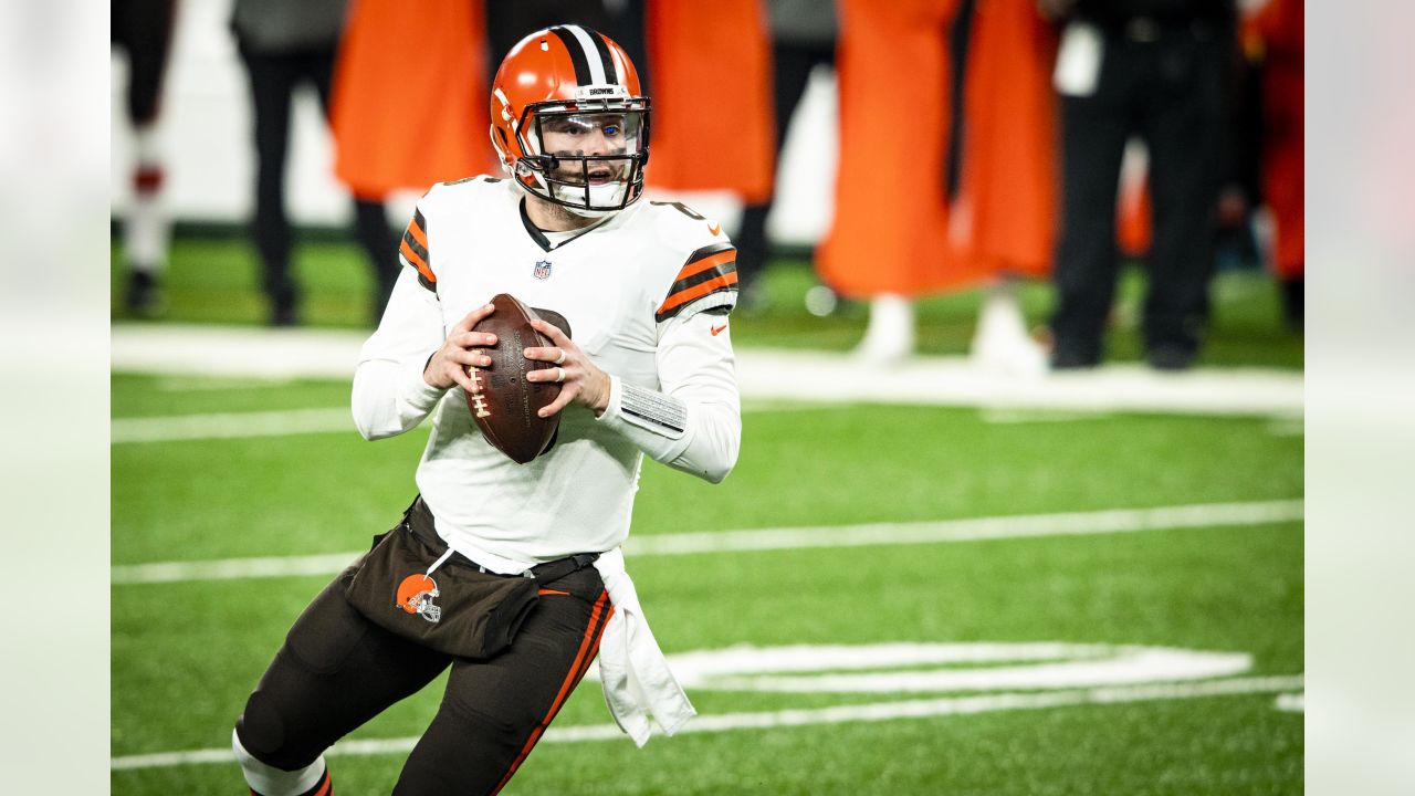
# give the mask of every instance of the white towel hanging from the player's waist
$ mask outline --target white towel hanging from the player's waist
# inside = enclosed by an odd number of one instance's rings
[[[664,735],[672,735],[698,711],[669,671],[668,660],[648,629],[634,581],[624,568],[623,551],[614,548],[600,554],[594,568],[600,571],[604,589],[614,603],[614,615],[600,640],[604,701],[620,729],[642,746],[648,744],[651,732],[649,717],[662,728]]]

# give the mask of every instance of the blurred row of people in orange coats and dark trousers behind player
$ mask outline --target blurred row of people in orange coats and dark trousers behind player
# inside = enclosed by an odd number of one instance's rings
[[[129,59],[134,201],[123,300],[161,307],[170,220],[151,130],[178,0],[113,0]],[[824,290],[865,302],[859,353],[916,347],[914,303],[983,288],[979,363],[1104,361],[1121,265],[1142,263],[1142,340],[1159,370],[1204,343],[1223,262],[1259,262],[1283,322],[1303,316],[1302,0],[233,0],[256,153],[252,238],[273,326],[299,324],[284,204],[291,92],[311,85],[374,290],[396,276],[385,200],[497,173],[494,64],[524,34],[579,23],[618,41],[652,101],[649,190],[730,191],[740,307],[768,303],[775,167],[814,69],[839,99]],[[1027,329],[1020,280],[1050,280]]]

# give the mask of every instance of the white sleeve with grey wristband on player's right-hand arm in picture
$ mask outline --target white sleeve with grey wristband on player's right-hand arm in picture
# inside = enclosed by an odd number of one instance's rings
[[[657,364],[661,391],[610,377],[600,422],[655,462],[720,483],[741,446],[741,398],[727,316],[696,312],[665,322]]]

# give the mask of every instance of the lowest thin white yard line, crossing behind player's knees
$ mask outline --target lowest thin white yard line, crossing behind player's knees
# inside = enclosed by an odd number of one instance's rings
[[[689,721],[679,735],[696,732],[732,732],[736,729],[773,729],[778,727],[811,727],[821,724],[848,724],[856,721],[894,721],[901,718],[930,718],[940,715],[972,715],[982,712],[1046,710],[1075,705],[1114,705],[1155,700],[1193,700],[1203,697],[1227,697],[1242,694],[1272,694],[1293,691],[1303,687],[1300,674],[1275,677],[1241,677],[1232,680],[1208,680],[1201,683],[1159,683],[1143,686],[1119,686],[1104,688],[1078,688],[1044,693],[1005,693],[978,697],[944,697],[938,700],[906,700],[870,703],[860,705],[839,705],[828,708],[782,710],[766,712],[729,712],[699,715]],[[610,741],[624,734],[613,724],[580,727],[552,727],[541,739],[542,744],[577,744],[587,741]],[[368,741],[341,741],[327,755],[368,756],[400,755],[412,751],[417,738],[386,738]],[[231,749],[195,749],[190,752],[160,752],[153,755],[127,755],[113,758],[113,771],[170,768],[198,763],[233,763]]]

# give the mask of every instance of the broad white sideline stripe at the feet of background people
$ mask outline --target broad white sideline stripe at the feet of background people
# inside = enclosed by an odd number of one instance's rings
[[[115,324],[115,373],[232,378],[351,378],[366,333]],[[1162,374],[1114,364],[1075,374],[1017,378],[968,357],[913,357],[869,368],[849,354],[739,347],[747,399],[993,406],[1065,412],[1166,412],[1300,416],[1303,377],[1268,368]]]

